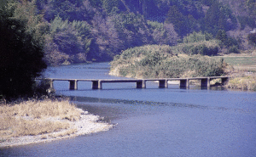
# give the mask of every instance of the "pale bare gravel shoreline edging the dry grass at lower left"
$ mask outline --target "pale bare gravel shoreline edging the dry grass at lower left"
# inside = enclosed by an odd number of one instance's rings
[[[8,140],[0,141],[0,148],[13,147],[26,145],[31,143],[46,143],[53,140],[58,140],[68,137],[76,137],[79,135],[85,135],[95,132],[108,131],[113,127],[112,124],[98,122],[100,116],[90,115],[87,111],[83,111],[80,115],[79,121],[72,121],[71,128],[73,132],[67,134],[67,130],[62,130],[60,132],[46,133],[37,136],[23,136],[23,137],[10,137]],[[63,136],[61,136],[63,134]]]

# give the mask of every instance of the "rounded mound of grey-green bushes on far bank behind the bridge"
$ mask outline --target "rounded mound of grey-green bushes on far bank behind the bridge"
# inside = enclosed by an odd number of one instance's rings
[[[115,56],[110,74],[136,78],[223,76],[226,67],[223,59],[173,54],[169,46],[148,45]]]

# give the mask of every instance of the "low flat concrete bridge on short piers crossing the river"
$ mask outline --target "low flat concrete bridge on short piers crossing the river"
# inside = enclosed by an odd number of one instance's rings
[[[211,76],[211,77],[190,77],[190,78],[163,78],[163,79],[55,79],[47,78],[50,87],[53,88],[54,81],[69,81],[69,89],[77,90],[79,81],[91,81],[92,89],[102,89],[102,83],[118,83],[118,82],[135,82],[137,88],[146,88],[147,81],[158,81],[158,87],[167,88],[168,81],[179,81],[179,87],[189,87],[189,81],[199,80],[200,87],[210,87],[210,81],[214,79],[220,79],[221,85],[227,81],[229,76]]]

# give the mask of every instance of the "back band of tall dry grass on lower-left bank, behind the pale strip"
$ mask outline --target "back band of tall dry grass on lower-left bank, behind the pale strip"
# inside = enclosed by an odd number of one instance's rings
[[[81,109],[77,109],[75,105],[69,104],[68,100],[29,100],[21,102],[20,104],[3,105],[0,107],[1,115],[10,117],[24,116],[33,119],[55,117],[69,121],[78,121],[81,112]]]

